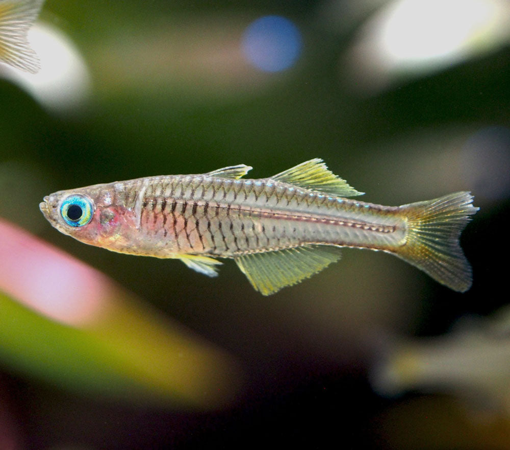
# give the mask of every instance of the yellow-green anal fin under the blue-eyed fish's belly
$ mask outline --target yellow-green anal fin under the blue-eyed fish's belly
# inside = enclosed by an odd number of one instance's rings
[[[340,259],[340,249],[323,245],[296,247],[237,256],[249,282],[263,295],[295,285]]]

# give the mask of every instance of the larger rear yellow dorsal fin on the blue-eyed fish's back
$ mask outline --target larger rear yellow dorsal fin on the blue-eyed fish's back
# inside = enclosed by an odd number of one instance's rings
[[[340,197],[354,197],[364,194],[356,191],[349,186],[347,181],[342,180],[342,178],[328,170],[326,164],[320,158],[302,162],[284,172],[273,175],[271,178]]]

